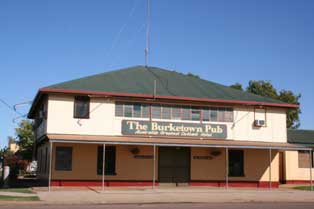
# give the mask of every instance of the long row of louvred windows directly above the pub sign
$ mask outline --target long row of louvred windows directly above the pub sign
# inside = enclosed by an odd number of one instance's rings
[[[116,102],[118,117],[233,122],[233,108]]]

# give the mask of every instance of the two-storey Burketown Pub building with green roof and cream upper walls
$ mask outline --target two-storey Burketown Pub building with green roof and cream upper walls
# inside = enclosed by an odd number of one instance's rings
[[[288,143],[289,108],[298,106],[155,67],[52,85],[29,112],[38,177],[49,186],[103,187],[309,181],[309,167],[295,179],[298,160],[287,161],[310,150]]]

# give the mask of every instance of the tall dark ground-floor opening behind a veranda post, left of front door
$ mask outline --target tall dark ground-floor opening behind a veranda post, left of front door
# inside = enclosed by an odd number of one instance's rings
[[[97,174],[102,175],[103,168],[103,146],[98,147]],[[116,147],[105,148],[105,175],[116,175]]]

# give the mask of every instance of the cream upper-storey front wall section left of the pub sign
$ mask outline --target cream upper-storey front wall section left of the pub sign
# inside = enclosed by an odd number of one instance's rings
[[[50,95],[47,133],[83,135],[114,133],[114,102],[104,98],[91,98],[89,119],[75,119],[73,112],[74,97]]]

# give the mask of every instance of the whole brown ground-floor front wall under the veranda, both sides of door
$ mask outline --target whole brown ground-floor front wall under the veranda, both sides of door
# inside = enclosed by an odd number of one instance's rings
[[[43,149],[48,143],[39,147]],[[56,171],[55,148],[56,146],[72,146],[72,171]],[[54,180],[101,180],[97,175],[97,146],[96,144],[54,144],[52,161],[52,179]],[[153,159],[135,158],[131,149],[135,146],[117,145],[116,173],[115,176],[106,176],[106,180],[121,181],[151,181],[153,176]],[[136,146],[138,155],[153,155],[153,147]],[[220,154],[212,156],[219,151]],[[158,155],[158,148],[156,149]],[[210,156],[210,157],[208,157]],[[223,181],[225,180],[225,149],[191,148],[191,180],[192,181]],[[269,174],[268,150],[244,150],[244,177],[230,177],[230,181],[268,181]],[[41,179],[47,179],[47,174],[40,174]],[[158,179],[158,156],[156,156],[156,180]],[[279,179],[278,152],[272,152],[272,181]]]

